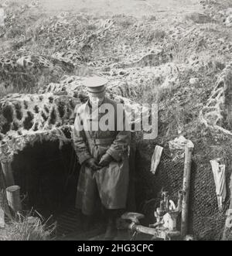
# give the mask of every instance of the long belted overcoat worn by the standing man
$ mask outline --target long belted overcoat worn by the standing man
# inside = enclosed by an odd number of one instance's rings
[[[101,106],[106,104],[111,105],[111,113],[109,110],[101,109]],[[125,114],[121,111],[118,113],[115,101],[104,97],[101,106],[95,115],[96,109],[93,111],[90,101],[80,105],[77,108],[73,130],[73,144],[81,165],[76,207],[86,215],[96,212],[95,207],[99,199],[101,204],[110,210],[124,209],[127,204],[131,133],[125,131]],[[100,121],[101,118],[107,117],[106,114],[113,125],[111,123],[111,128],[103,131]],[[97,129],[96,126],[93,129],[94,124],[97,124]],[[94,158],[99,162],[106,152],[113,159],[109,166],[97,172],[86,166],[87,159]]]

